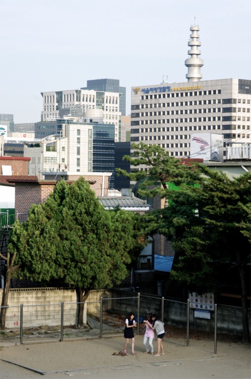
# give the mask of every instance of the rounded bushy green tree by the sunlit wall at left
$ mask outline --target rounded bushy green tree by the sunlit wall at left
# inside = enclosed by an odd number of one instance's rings
[[[141,249],[138,223],[131,212],[105,210],[83,178],[60,181],[45,204],[31,206],[25,223],[15,222],[9,251],[19,278],[56,279],[76,289],[82,325],[90,290],[112,287],[128,274]]]

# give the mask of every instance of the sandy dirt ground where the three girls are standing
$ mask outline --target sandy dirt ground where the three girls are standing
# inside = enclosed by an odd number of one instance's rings
[[[123,351],[124,317],[104,314],[102,339],[99,339],[98,317],[91,317],[84,328],[64,327],[64,342],[60,327],[28,328],[20,345],[19,330],[2,331],[0,337],[1,379],[250,379],[250,345],[240,337],[218,335],[214,352],[214,335],[191,330],[190,344],[186,329],[166,325],[165,355],[144,354],[143,325],[135,335],[135,351],[126,356]],[[157,341],[153,342],[156,351]]]

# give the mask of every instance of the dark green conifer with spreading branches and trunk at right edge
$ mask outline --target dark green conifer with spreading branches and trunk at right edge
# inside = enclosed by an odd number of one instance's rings
[[[169,194],[159,224],[175,249],[172,277],[190,291],[221,292],[224,270],[237,268],[241,288],[243,342],[249,340],[247,279],[250,262],[251,175],[228,178],[199,168],[199,187],[181,185]],[[233,271],[235,272],[235,271]]]

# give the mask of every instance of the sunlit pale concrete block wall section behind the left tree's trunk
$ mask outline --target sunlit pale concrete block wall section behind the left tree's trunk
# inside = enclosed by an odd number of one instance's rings
[[[2,302],[3,290],[0,290]],[[84,323],[87,313],[100,312],[100,298],[111,297],[106,291],[91,291],[84,311]],[[23,326],[59,325],[61,322],[61,302],[64,302],[64,325],[75,325],[78,317],[78,304],[75,290],[65,289],[12,289],[9,293],[9,308],[6,316],[6,327],[20,325],[20,305],[23,304]],[[111,307],[106,301],[103,309]]]

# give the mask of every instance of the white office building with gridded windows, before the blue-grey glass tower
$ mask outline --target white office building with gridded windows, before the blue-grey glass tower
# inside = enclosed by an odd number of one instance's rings
[[[60,112],[76,113],[83,121],[90,122],[99,114],[99,122],[115,125],[115,141],[120,139],[120,116],[118,92],[73,89],[63,91],[41,92],[43,110],[41,121],[59,119]],[[75,115],[74,115],[75,116]]]

